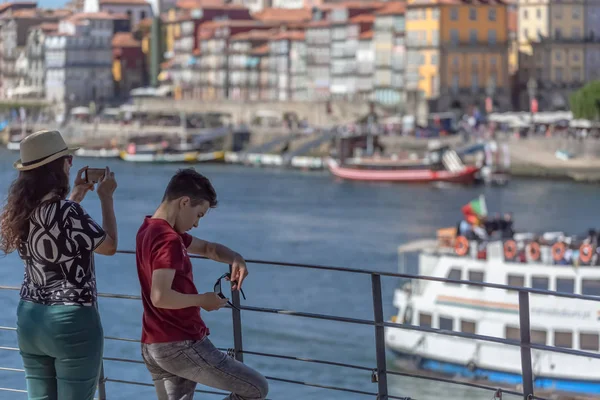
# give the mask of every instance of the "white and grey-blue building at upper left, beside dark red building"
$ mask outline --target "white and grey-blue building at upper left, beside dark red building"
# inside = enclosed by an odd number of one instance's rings
[[[47,100],[87,104],[113,97],[113,23],[121,17],[99,12],[60,21],[45,40]]]

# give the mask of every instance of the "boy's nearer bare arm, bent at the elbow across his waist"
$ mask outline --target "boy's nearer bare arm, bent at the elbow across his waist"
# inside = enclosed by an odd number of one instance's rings
[[[172,268],[156,269],[152,273],[150,300],[156,308],[179,310],[188,307],[202,307],[206,311],[214,311],[224,307],[227,299],[216,293],[183,294],[172,289],[175,270]]]

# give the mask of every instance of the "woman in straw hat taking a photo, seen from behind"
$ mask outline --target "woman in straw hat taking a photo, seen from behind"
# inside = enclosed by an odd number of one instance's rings
[[[29,399],[92,400],[102,364],[94,252],[116,251],[117,183],[107,167],[96,188],[101,226],[79,205],[94,190],[86,168],[67,198],[75,150],[58,131],[23,139],[19,175],[0,215],[0,250],[16,250],[25,264],[17,336]]]

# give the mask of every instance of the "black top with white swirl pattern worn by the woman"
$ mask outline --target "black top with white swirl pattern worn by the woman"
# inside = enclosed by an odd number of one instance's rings
[[[21,298],[45,305],[94,305],[94,250],[105,238],[78,203],[60,200],[38,207],[27,241],[19,247],[25,263]]]

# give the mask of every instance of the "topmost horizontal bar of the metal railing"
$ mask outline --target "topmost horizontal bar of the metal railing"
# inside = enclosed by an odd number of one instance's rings
[[[118,250],[117,253],[135,254],[135,251]],[[207,260],[206,257],[197,256],[197,255],[193,255],[193,254],[190,254],[190,258]],[[509,291],[515,291],[515,292],[527,292],[527,293],[531,293],[531,294],[541,294],[541,295],[546,295],[546,296],[555,296],[555,297],[564,297],[564,298],[569,298],[569,299],[579,299],[579,300],[589,300],[589,301],[600,302],[600,296],[589,296],[589,295],[582,295],[582,294],[575,294],[575,293],[555,292],[552,290],[502,285],[499,283],[472,282],[472,281],[465,281],[462,279],[448,279],[448,278],[440,278],[440,277],[436,277],[436,276],[427,276],[427,275],[401,274],[398,272],[374,271],[374,270],[368,270],[368,269],[335,267],[335,266],[316,265],[316,264],[290,263],[290,262],[282,262],[282,261],[266,261],[266,260],[253,260],[253,259],[248,259],[245,261],[248,264],[262,264],[262,265],[272,265],[272,266],[279,266],[279,267],[320,269],[320,270],[327,270],[327,271],[349,272],[349,273],[366,274],[366,275],[381,275],[381,276],[388,276],[388,277],[394,277],[394,278],[417,279],[417,280],[432,281],[432,282],[453,283],[453,284],[457,284],[457,285],[489,287],[492,289],[502,289],[502,290],[509,290]],[[0,289],[1,289],[1,287],[0,287]]]

